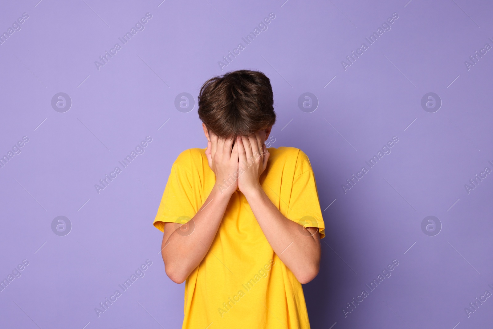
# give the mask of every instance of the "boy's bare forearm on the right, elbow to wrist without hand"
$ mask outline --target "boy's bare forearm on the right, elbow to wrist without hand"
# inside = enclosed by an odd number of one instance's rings
[[[276,255],[299,282],[313,280],[320,263],[318,229],[303,230],[302,225],[284,217],[261,187],[246,199]]]

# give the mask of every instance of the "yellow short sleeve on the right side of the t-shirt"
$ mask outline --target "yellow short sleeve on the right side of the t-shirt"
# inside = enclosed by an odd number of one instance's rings
[[[315,174],[308,156],[301,150],[296,163],[286,218],[305,227],[318,227],[320,239],[325,237]]]

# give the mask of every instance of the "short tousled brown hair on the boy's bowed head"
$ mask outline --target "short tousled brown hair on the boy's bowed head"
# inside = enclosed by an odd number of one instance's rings
[[[215,76],[200,88],[199,118],[220,138],[252,136],[276,122],[270,79],[238,70]]]

